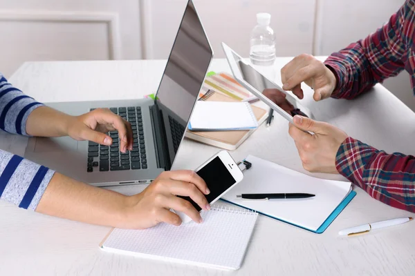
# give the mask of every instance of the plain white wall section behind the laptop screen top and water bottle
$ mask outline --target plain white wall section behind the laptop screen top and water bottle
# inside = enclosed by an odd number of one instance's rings
[[[144,0],[147,28],[147,58],[166,58],[187,0]],[[271,27],[277,34],[277,55],[312,52],[315,0],[195,0],[212,47],[214,57],[224,57],[221,42],[228,43],[243,56],[249,55],[250,32],[257,23],[257,12],[269,12]]]

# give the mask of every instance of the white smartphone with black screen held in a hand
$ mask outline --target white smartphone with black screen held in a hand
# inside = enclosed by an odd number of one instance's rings
[[[221,150],[216,155],[210,157],[208,161],[202,164],[195,172],[206,182],[210,190],[209,195],[205,195],[209,204],[214,204],[216,200],[221,198],[228,190],[237,185],[243,179],[243,173],[234,159],[226,150]],[[181,197],[192,203],[194,208],[201,211],[201,207],[196,204],[190,197]],[[187,223],[191,221],[190,217],[185,213],[174,212],[183,221]]]

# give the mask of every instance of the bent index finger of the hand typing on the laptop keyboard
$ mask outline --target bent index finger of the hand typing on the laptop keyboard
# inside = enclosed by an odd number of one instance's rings
[[[94,110],[95,120],[98,124],[111,124],[113,128],[118,130],[118,137],[120,138],[120,150],[121,152],[127,151],[127,127],[124,124],[123,119],[111,112],[109,109]]]

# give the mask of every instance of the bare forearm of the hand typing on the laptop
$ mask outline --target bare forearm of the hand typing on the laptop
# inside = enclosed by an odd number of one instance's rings
[[[38,137],[61,137],[68,135],[73,117],[41,106],[30,113],[26,121],[26,133]]]

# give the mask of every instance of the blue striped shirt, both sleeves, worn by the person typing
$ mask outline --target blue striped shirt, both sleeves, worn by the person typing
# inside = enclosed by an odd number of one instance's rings
[[[43,106],[13,87],[0,73],[0,128],[26,135],[26,121],[33,110]],[[0,150],[0,199],[20,208],[36,210],[55,172],[10,152]]]

